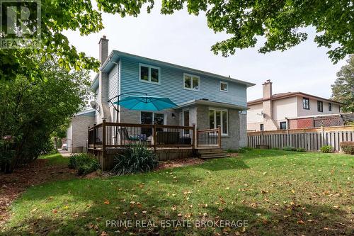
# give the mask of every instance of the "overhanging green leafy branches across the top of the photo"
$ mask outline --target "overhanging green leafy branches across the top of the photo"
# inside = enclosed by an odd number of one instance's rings
[[[42,60],[55,54],[59,64],[69,68],[97,69],[92,57],[69,45],[63,30],[79,30],[81,35],[103,29],[102,12],[120,16],[138,16],[144,4],[149,12],[154,0],[42,0],[42,47],[35,50],[0,50],[0,77],[11,79],[16,74],[38,78],[40,68],[33,56]],[[212,46],[215,53],[232,55],[236,49],[255,47],[257,36],[266,42],[259,48],[265,53],[287,50],[307,40],[302,28],[316,28],[315,42],[329,48],[333,62],[354,52],[354,6],[352,0],[162,0],[161,13],[171,14],[186,6],[188,13],[206,12],[207,25],[215,32],[230,35]]]

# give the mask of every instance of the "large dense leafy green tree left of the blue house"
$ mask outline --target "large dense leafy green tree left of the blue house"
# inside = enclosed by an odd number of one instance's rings
[[[51,61],[39,67],[43,79],[18,76],[0,84],[0,171],[47,151],[50,135],[89,98],[88,72],[68,72]]]

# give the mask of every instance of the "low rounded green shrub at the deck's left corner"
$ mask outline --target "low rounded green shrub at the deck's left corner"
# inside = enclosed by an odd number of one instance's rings
[[[100,169],[100,163],[93,157],[91,154],[80,153],[74,154],[69,157],[70,169],[76,169],[77,174],[89,174],[95,172],[97,169]]]

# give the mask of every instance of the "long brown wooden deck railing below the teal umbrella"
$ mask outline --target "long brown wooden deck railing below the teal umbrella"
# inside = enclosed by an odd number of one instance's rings
[[[195,147],[195,125],[147,125],[105,122],[88,130],[88,147],[108,150],[140,144],[147,147]]]

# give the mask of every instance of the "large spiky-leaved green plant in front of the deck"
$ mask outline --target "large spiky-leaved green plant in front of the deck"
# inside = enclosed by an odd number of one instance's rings
[[[131,145],[125,152],[115,156],[115,167],[111,172],[117,175],[149,172],[158,164],[152,150],[143,145]]]

